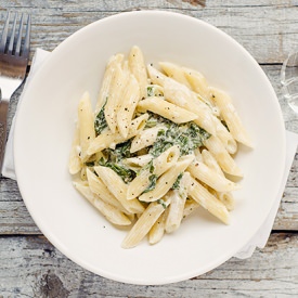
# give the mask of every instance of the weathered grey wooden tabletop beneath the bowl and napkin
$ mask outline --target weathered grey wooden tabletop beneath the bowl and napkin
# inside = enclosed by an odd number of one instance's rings
[[[298,115],[281,92],[280,70],[298,48],[297,0],[0,0],[5,10],[33,15],[31,52],[53,50],[81,27],[122,10],[151,8],[204,20],[231,35],[261,65],[278,96],[286,128],[298,132]],[[11,105],[10,122],[21,90]],[[298,154],[264,249],[232,258],[195,278],[163,286],[109,281],[57,251],[31,220],[17,183],[0,179],[0,297],[298,297]]]

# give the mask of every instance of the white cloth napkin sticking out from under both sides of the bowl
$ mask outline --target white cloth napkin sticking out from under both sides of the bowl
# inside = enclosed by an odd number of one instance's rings
[[[47,56],[49,56],[49,54],[50,54],[50,52],[47,52],[41,49],[37,49],[35,56],[33,59],[30,73],[27,77],[24,90],[30,82],[36,70],[40,67],[40,65],[43,63],[44,59],[47,59]],[[23,99],[23,96],[21,95],[18,102],[22,101],[22,99]],[[17,109],[16,109],[15,117],[16,117],[16,115],[17,115]],[[13,121],[12,121],[12,127],[11,127],[9,139],[8,139],[4,161],[3,161],[3,168],[2,168],[2,176],[7,177],[7,178],[14,179],[14,180],[16,180],[15,171],[14,171],[14,161],[13,161],[13,131],[14,131],[15,117],[13,118]],[[293,163],[296,150],[297,150],[297,144],[298,144],[298,134],[296,134],[294,132],[286,131],[286,145],[287,145],[286,167],[285,167],[285,172],[284,172],[283,181],[281,184],[281,189],[280,189],[278,195],[275,199],[274,206],[272,207],[272,210],[271,210],[269,217],[267,218],[267,220],[264,221],[262,226],[259,229],[259,231],[256,233],[256,235],[234,257],[239,258],[239,259],[249,258],[254,254],[254,251],[257,247],[263,248],[265,246],[267,241],[270,236],[273,223],[274,223],[274,219],[276,217],[276,212],[277,212],[277,209],[278,209],[278,206],[281,203],[281,198],[282,198],[284,189],[285,189],[285,184],[286,184],[287,177],[288,177],[288,173],[290,170],[290,166],[291,166],[291,163]]]

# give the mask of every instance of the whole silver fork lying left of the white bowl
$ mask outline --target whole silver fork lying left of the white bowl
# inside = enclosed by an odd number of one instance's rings
[[[8,12],[0,41],[0,173],[7,144],[10,99],[25,78],[30,51],[30,15],[27,17],[25,34],[24,14],[21,16],[18,29],[16,28],[17,13],[14,15],[12,26],[10,26],[10,18],[11,13]]]

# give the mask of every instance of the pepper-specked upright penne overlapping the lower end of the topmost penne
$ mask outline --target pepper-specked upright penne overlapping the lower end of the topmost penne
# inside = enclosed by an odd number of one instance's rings
[[[133,75],[129,75],[127,86],[119,101],[117,127],[120,134],[127,138],[135,107],[140,100],[140,87]]]

